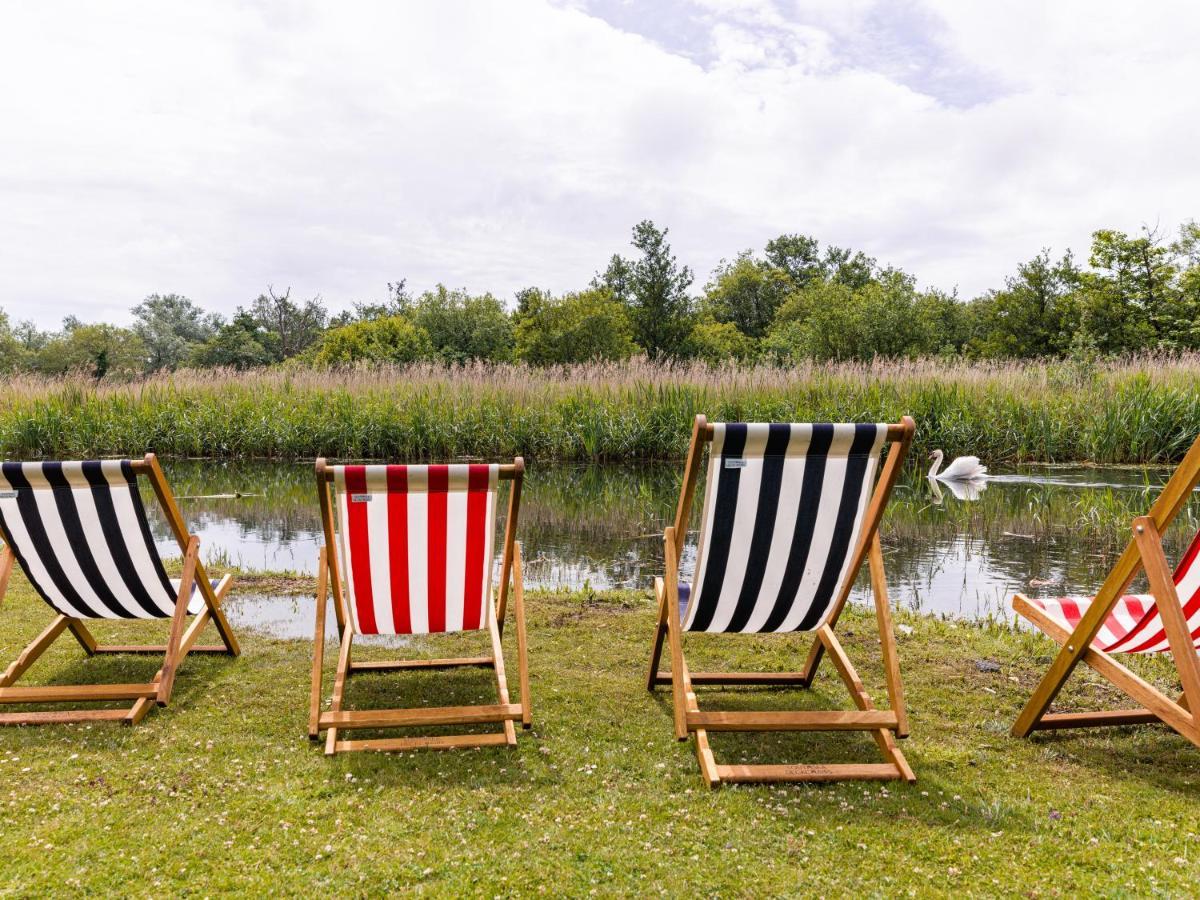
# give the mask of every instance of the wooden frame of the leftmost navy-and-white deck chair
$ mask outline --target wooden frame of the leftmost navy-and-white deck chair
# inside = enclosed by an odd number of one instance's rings
[[[133,701],[128,709],[64,709],[28,713],[0,713],[0,725],[47,725],[68,722],[120,721],[125,725],[137,725],[157,703],[167,706],[175,685],[175,673],[188,653],[222,653],[236,656],[241,653],[238,638],[221,610],[221,601],[229,592],[233,576],[226,575],[214,587],[204,572],[199,558],[200,539],[190,534],[184,516],[175,503],[170,485],[163,475],[158,460],[154,454],[146,454],[140,461],[131,463],[134,474],[150,480],[158,505],[167,518],[172,534],[184,552],[184,572],[175,600],[175,612],[170,617],[170,631],[166,644],[101,644],[89,631],[85,619],[58,614],[42,634],[35,637],[20,655],[0,676],[0,704],[7,703],[88,703],[110,701]],[[0,550],[0,601],[4,600],[8,580],[16,564],[16,553],[11,547]],[[193,586],[204,599],[204,608],[187,624],[187,607],[192,599]],[[144,622],[145,619],[139,619]],[[122,619],[112,619],[122,622]],[[197,646],[205,625],[211,622],[221,637],[221,644]],[[16,688],[17,680],[37,659],[62,635],[70,631],[89,656],[97,654],[162,654],[162,668],[154,679],[145,684],[78,684],[50,685],[43,688]]]

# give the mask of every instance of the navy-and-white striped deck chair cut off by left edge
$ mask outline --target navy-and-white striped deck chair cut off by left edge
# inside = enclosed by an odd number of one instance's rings
[[[138,476],[149,479],[184,553],[179,578],[169,578],[163,568],[138,493]],[[188,653],[240,653],[221,610],[233,578],[226,575],[212,583],[205,576],[200,539],[188,534],[154,454],[137,461],[0,463],[0,600],[14,564],[19,564],[34,590],[56,613],[0,676],[0,704],[133,701],[127,709],[2,713],[0,725],[136,725],[154,703],[167,706],[175,673]],[[191,624],[188,616],[193,617]],[[96,642],[85,624],[97,619],[170,619],[170,632],[166,644],[106,646]],[[196,646],[209,622],[223,643]],[[145,684],[14,688],[64,631],[70,631],[89,656],[162,654],[162,668]]]

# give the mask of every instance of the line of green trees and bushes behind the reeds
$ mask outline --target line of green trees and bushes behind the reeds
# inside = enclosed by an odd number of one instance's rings
[[[644,221],[583,289],[492,294],[404,280],[382,300],[331,316],[319,296],[266,293],[226,319],[180,294],[151,294],[133,324],[58,331],[0,310],[0,372],[96,378],[181,367],[254,368],[475,360],[558,365],[624,360],[847,361],[947,356],[1038,359],[1200,349],[1200,224],[1177,235],[1103,229],[1081,265],[1043,251],[1002,288],[970,301],[860,251],[784,234],[722,260],[708,282],[680,265],[668,232]]]

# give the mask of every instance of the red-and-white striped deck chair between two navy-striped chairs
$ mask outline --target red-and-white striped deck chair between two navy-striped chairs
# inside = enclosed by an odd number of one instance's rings
[[[325,754],[516,745],[512,722],[532,727],[524,590],[517,514],[524,462],[511,466],[329,466],[317,460],[325,532],[317,583],[308,737],[326,730]],[[498,598],[492,592],[496,502],[510,481]],[[335,528],[334,510],[337,510]],[[509,701],[500,635],[512,583],[521,702]],[[331,588],[331,590],[330,590]],[[329,712],[320,712],[325,607],[332,595],[341,649]],[[396,661],[352,660],[355,635],[432,635],[486,630],[491,655]],[[343,709],[346,680],[364,672],[475,666],[496,676],[491,706]],[[428,728],[498,724],[498,732],[342,740],[352,728]]]

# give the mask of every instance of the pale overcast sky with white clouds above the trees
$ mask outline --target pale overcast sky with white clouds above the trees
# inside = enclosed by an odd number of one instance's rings
[[[1200,217],[1200,5],[0,0],[0,308],[697,287],[802,232],[972,296]]]

